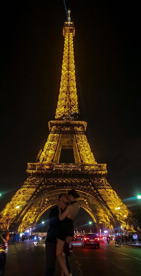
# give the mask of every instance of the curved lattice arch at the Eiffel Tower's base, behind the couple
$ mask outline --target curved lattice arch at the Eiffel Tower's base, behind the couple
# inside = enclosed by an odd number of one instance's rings
[[[20,230],[35,228],[40,216],[43,215],[47,209],[58,203],[58,196],[61,193],[67,193],[69,190],[70,189],[63,189],[63,187],[61,189],[60,187],[60,189],[51,188],[50,191],[49,189],[48,191],[42,190],[40,195],[39,192],[36,192],[36,196],[33,195],[28,204],[25,204],[24,208],[22,208],[19,213],[17,219],[18,228]],[[109,206],[106,205],[106,202],[102,200],[96,190],[89,193],[81,191],[80,187],[78,189],[76,187],[76,191],[80,194],[80,198],[77,200],[79,205],[90,214],[97,229],[100,228],[100,223],[108,229],[115,228],[117,226],[117,219],[115,215],[111,212]],[[36,216],[31,218],[33,210],[36,209],[37,211],[37,206],[38,212],[36,212]]]

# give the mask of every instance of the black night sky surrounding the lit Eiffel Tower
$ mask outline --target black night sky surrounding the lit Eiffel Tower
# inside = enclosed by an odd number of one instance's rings
[[[75,23],[81,117],[97,163],[131,210],[140,183],[140,7],[136,2],[66,1]],[[0,209],[26,179],[48,138],[62,70],[64,1],[1,6]],[[130,199],[129,199],[130,198]],[[133,198],[133,199],[131,199]]]

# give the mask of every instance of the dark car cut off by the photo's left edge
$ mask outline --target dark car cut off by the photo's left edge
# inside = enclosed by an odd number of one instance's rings
[[[8,243],[0,234],[0,275],[4,275]]]

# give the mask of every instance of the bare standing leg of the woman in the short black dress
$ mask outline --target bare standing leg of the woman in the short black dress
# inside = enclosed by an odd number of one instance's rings
[[[65,274],[65,276],[69,276],[69,272],[66,266],[65,258],[62,255],[63,253],[63,248],[64,248],[65,241],[57,239],[57,245],[56,245],[56,258],[58,260],[58,263],[62,269],[62,272]],[[62,276],[61,272],[61,276]]]

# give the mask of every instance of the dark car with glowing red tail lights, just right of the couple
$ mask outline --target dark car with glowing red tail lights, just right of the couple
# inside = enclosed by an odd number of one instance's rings
[[[99,238],[96,234],[85,234],[81,239],[81,246],[85,248],[86,246],[94,246],[100,249]]]

